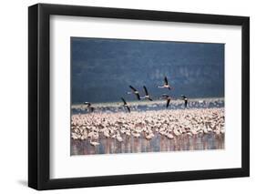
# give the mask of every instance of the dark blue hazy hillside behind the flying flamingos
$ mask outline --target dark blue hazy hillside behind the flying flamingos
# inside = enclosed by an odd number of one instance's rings
[[[71,39],[72,103],[133,100],[128,86],[154,97],[224,97],[224,44]],[[158,88],[163,77],[175,87]]]

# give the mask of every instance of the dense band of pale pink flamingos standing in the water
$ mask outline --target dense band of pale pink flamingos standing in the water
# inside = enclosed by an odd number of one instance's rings
[[[92,146],[98,146],[100,138],[113,138],[122,143],[131,136],[150,141],[157,134],[172,139],[208,133],[225,133],[224,108],[178,109],[171,114],[168,110],[130,114],[101,112],[71,118],[71,138],[89,140]]]

